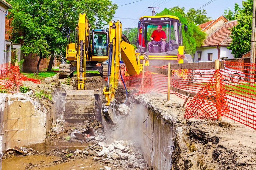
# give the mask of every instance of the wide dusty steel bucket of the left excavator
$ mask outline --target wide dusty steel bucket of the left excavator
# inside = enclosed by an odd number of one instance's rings
[[[94,101],[94,90],[67,90],[64,119],[76,123],[95,116]]]

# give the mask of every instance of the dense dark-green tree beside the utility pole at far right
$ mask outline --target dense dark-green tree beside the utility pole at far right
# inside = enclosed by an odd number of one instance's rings
[[[243,8],[235,14],[238,25],[231,28],[232,42],[227,47],[232,50],[234,58],[241,58],[251,49],[253,0],[242,1],[242,5]]]

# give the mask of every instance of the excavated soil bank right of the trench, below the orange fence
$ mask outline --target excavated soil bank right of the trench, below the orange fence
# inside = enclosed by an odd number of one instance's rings
[[[227,118],[186,120],[185,109],[179,105],[185,100],[171,95],[174,106],[178,106],[172,108],[166,104],[166,97],[153,92],[135,99],[174,125],[173,169],[256,169],[255,130]]]

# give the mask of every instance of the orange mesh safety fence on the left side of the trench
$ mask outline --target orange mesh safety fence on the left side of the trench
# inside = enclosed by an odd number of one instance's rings
[[[28,78],[24,74],[21,74],[18,66],[9,66],[9,63],[0,65],[0,90],[2,92],[19,92],[20,86],[22,86],[22,80],[41,83],[38,79]]]

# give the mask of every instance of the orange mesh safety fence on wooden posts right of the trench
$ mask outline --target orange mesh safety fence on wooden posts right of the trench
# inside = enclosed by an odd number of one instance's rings
[[[225,69],[177,69],[171,72],[170,85],[196,96],[190,97],[186,105],[186,119],[209,118],[212,120],[228,117],[256,130],[256,74],[255,64],[224,61]],[[162,68],[167,69],[168,66]],[[167,94],[167,76],[145,70],[133,76],[124,76],[127,89],[137,90],[137,94],[156,91]],[[119,75],[119,81],[121,77]],[[170,90],[180,98],[184,96]]]

